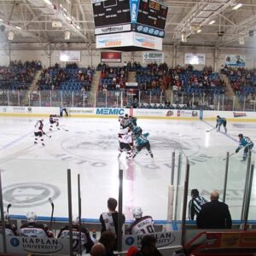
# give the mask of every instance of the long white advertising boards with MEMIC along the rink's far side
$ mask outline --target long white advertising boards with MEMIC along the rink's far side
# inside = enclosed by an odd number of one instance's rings
[[[60,115],[61,108],[51,107],[0,107],[0,116],[48,117]],[[117,118],[125,113],[141,119],[200,119],[200,110],[189,109],[153,109],[153,108],[67,108],[70,117]],[[215,120],[220,115],[230,121],[256,121],[255,112],[245,111],[203,111],[204,120]],[[65,116],[65,113],[63,113]]]

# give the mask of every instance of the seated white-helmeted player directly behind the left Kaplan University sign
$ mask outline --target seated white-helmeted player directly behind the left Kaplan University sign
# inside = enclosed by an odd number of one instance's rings
[[[52,230],[45,224],[38,224],[38,217],[35,212],[26,213],[26,224],[20,227],[20,236],[47,238],[54,237]]]

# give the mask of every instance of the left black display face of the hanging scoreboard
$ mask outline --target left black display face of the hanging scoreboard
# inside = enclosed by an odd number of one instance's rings
[[[130,0],[105,0],[92,3],[95,27],[131,22]]]

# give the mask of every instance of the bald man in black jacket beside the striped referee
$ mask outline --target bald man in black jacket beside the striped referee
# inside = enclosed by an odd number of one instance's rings
[[[229,207],[218,201],[218,191],[211,193],[211,201],[201,207],[196,224],[199,229],[231,229],[232,219]]]

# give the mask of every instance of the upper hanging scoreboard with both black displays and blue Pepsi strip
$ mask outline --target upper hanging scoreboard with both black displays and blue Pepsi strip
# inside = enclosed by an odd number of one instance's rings
[[[91,1],[96,28],[130,24],[132,31],[164,38],[168,7],[163,3],[156,0]],[[109,27],[105,31],[119,32]]]

